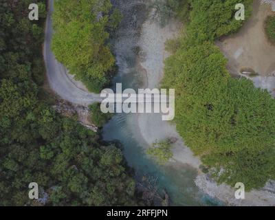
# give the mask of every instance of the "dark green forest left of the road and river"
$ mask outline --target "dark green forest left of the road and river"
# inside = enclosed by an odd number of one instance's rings
[[[39,21],[28,19],[30,3],[39,3]],[[0,206],[43,203],[28,198],[30,182],[47,206],[134,205],[122,152],[45,98],[45,17],[45,1],[0,2]]]

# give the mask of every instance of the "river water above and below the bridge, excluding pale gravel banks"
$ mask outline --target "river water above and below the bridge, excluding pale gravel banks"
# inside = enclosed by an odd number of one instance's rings
[[[145,79],[137,72],[137,43],[139,30],[146,19],[146,7],[140,0],[115,1],[124,19],[113,39],[113,52],[118,65],[118,74],[113,84],[122,83],[122,87],[137,89]],[[114,86],[115,87],[115,86]],[[157,129],[157,128],[156,128]],[[196,170],[189,166],[171,163],[159,166],[146,155],[146,142],[140,135],[136,114],[120,113],[115,115],[102,129],[106,141],[119,140],[129,166],[135,170],[135,178],[140,181],[144,175],[157,177],[159,190],[168,192],[170,205],[173,206],[217,206],[219,201],[203,195],[195,186]]]

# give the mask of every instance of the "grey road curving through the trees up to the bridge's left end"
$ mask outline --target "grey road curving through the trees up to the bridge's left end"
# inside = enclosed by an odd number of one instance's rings
[[[45,42],[43,48],[43,56],[47,72],[47,80],[51,89],[64,100],[74,104],[88,106],[93,102],[100,102],[99,94],[92,94],[76,85],[76,81],[68,75],[67,69],[59,63],[51,50],[52,43],[52,12],[54,11],[54,0],[49,0],[49,12],[45,25]]]

